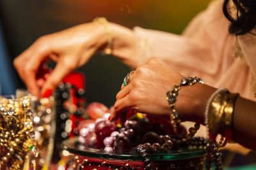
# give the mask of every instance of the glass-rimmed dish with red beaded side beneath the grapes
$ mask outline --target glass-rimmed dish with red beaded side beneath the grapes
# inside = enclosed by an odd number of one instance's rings
[[[138,153],[104,152],[84,146],[77,138],[63,141],[63,148],[72,153],[73,166],[77,169],[144,169],[143,158]],[[155,169],[204,169],[205,154],[205,149],[188,148],[152,153],[148,158]]]

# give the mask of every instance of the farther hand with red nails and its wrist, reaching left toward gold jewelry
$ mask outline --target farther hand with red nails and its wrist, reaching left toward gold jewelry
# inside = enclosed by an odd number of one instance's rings
[[[132,60],[129,58],[134,56],[132,31],[113,23],[109,23],[109,27],[113,33],[113,54],[116,53],[117,57],[124,62]],[[68,73],[83,66],[97,50],[104,50],[107,43],[106,25],[100,22],[81,24],[42,36],[14,60],[14,65],[28,90],[37,97],[45,96],[44,94],[49,94],[49,91],[56,89],[58,83]],[[127,56],[120,56],[120,52],[127,53]],[[38,74],[42,75],[44,72],[42,66],[48,59],[54,60],[57,63],[56,67],[44,82],[38,83],[36,78]],[[41,91],[40,88],[42,88]]]

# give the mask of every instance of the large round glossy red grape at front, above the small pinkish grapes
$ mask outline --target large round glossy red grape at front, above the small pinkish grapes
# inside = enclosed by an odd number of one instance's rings
[[[94,130],[97,136],[103,140],[116,130],[116,125],[108,120],[101,120],[95,124]]]

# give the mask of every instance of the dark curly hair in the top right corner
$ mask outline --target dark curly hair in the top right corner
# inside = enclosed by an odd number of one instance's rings
[[[231,13],[230,3],[236,7],[236,15]],[[252,33],[256,25],[256,0],[225,0],[223,13],[231,22],[228,31],[236,36]]]

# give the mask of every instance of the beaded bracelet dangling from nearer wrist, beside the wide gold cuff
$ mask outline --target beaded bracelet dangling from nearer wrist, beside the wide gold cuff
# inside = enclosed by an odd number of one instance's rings
[[[177,125],[180,124],[181,120],[179,118],[179,113],[177,110],[175,110],[175,101],[176,98],[179,94],[179,90],[181,89],[182,86],[187,86],[187,85],[195,85],[195,83],[204,83],[201,78],[198,78],[196,76],[193,77],[188,77],[188,78],[182,78],[180,80],[180,83],[178,85],[174,85],[170,91],[166,93],[166,99],[168,103],[170,104],[170,109],[171,109],[171,122],[173,124],[173,129],[175,132],[177,132]],[[186,140],[191,139],[196,131],[199,129],[200,124],[195,124],[195,127],[189,128],[189,134],[185,138]]]

